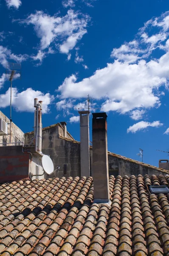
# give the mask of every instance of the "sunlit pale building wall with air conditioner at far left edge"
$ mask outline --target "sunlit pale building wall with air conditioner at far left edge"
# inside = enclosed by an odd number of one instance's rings
[[[0,111],[0,119],[3,119],[5,122],[10,123],[10,120],[8,119],[7,116],[5,116],[1,111]],[[10,125],[8,125],[8,135],[0,135],[0,143],[9,143],[9,138],[10,138]],[[20,130],[17,125],[15,125],[13,122],[11,123],[11,142],[15,142],[15,137],[17,137],[18,140],[24,143],[24,133],[23,131]],[[14,144],[12,144],[14,145]],[[0,146],[3,146],[0,144]]]

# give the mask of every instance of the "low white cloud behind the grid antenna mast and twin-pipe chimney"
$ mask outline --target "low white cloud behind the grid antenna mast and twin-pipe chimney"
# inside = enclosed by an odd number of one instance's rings
[[[34,98],[42,100],[42,112],[48,113],[49,105],[54,100],[54,96],[50,93],[42,93],[28,88],[25,91],[18,92],[17,88],[12,88],[12,106],[16,111],[20,112],[33,112],[34,111]],[[0,94],[0,107],[6,108],[10,105],[10,88],[4,94]],[[32,106],[32,107],[31,107]]]

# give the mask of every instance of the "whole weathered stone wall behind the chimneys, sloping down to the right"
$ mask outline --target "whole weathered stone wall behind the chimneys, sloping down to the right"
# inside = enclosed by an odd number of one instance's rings
[[[34,134],[25,134],[25,144],[31,141]],[[70,138],[70,139],[69,139]],[[42,153],[50,155],[54,163],[54,173],[48,177],[80,176],[80,143],[63,137],[60,124],[51,125],[42,130]],[[92,147],[90,146],[90,175],[92,176]],[[109,175],[165,175],[167,172],[158,167],[150,166],[117,154],[108,153]],[[60,169],[57,169],[57,166]],[[169,173],[169,172],[168,172]]]

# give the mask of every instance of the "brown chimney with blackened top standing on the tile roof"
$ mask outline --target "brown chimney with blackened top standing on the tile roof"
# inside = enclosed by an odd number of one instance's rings
[[[94,203],[109,203],[110,192],[106,113],[93,113],[92,136]]]

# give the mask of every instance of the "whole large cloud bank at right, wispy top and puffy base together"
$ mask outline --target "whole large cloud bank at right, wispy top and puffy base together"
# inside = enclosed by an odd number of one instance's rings
[[[165,27],[169,18],[166,17],[169,12],[145,23],[132,41],[113,49],[113,62],[92,76],[78,82],[77,75],[67,77],[59,86],[60,98],[80,99],[89,93],[102,101],[103,111],[129,113],[135,120],[142,118],[147,109],[158,108],[163,96],[159,87],[169,87],[169,33]],[[158,33],[152,33],[155,28]],[[151,58],[162,44],[165,52],[157,59]]]

